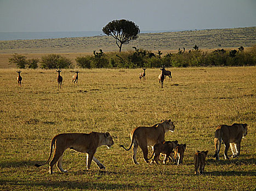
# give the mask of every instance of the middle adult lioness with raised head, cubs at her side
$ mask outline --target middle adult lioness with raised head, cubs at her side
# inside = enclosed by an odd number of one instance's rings
[[[147,159],[147,146],[153,146],[157,143],[162,143],[164,141],[164,134],[168,131],[173,132],[175,126],[172,120],[162,120],[161,123],[155,124],[151,127],[136,127],[130,132],[130,147],[127,149],[123,145],[126,151],[129,151],[133,147],[133,162],[134,164],[139,164],[136,160],[136,154],[138,151],[138,146],[140,146],[143,151],[143,157],[146,163]]]

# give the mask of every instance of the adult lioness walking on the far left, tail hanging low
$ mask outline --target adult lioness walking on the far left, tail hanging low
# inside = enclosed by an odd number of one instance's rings
[[[105,169],[105,166],[99,162],[98,159],[94,157],[94,153],[96,149],[100,146],[106,145],[110,148],[114,144],[112,137],[109,132],[106,133],[97,133],[91,132],[89,134],[86,133],[63,133],[54,136],[52,142],[50,144],[50,154],[47,164],[52,156],[53,147],[53,159],[49,164],[49,173],[53,174],[53,165],[57,163],[57,168],[60,172],[67,172],[67,170],[63,170],[61,166],[63,153],[67,148],[75,150],[81,153],[87,153],[87,169],[90,168],[90,164],[95,162],[100,169]],[[35,166],[39,167],[44,164],[36,164]]]

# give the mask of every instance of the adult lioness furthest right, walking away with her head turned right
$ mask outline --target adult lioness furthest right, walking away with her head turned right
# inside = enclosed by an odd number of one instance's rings
[[[216,160],[219,160],[221,140],[223,140],[225,144],[224,158],[229,159],[227,156],[229,146],[232,151],[231,157],[237,157],[240,154],[241,140],[247,135],[247,126],[246,123],[234,123],[232,126],[223,124],[217,127],[214,136],[215,154],[213,158],[216,157]]]

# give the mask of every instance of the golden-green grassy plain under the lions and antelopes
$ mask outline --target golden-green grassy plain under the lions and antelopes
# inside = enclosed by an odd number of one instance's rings
[[[255,190],[256,67],[171,68],[173,81],[159,88],[159,69],[79,69],[73,86],[69,69],[63,69],[62,89],[55,70],[22,70],[22,87],[16,69],[0,69],[0,189],[1,190]],[[129,133],[137,126],[151,126],[171,118],[176,129],[166,140],[186,143],[184,165],[149,165],[139,149],[132,162]],[[214,132],[220,124],[248,123],[241,156],[215,163]],[[86,157],[67,150],[64,169],[48,174],[48,158],[55,134],[108,131],[115,145],[95,154],[106,170]],[[209,150],[206,173],[194,175],[197,150]],[[151,149],[149,155],[151,154]],[[231,151],[229,150],[229,154]]]

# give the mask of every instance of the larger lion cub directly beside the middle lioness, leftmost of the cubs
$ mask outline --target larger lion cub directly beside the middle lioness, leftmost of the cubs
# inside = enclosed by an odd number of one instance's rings
[[[156,164],[158,163],[158,158],[160,156],[160,153],[164,154],[164,160],[163,160],[163,164],[166,164],[167,160],[172,158],[172,161],[174,162],[174,158],[173,158],[173,150],[174,148],[177,146],[178,141],[164,141],[163,144],[162,143],[158,143],[156,145],[153,146],[153,153],[152,156],[150,157],[150,159],[153,157],[152,162],[153,163],[155,161]],[[170,158],[169,158],[170,157]]]

